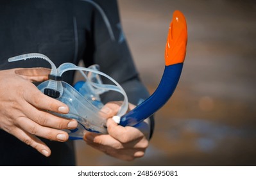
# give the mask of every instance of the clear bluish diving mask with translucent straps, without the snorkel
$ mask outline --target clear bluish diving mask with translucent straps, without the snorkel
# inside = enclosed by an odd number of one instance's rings
[[[58,68],[43,54],[31,53],[15,56],[8,59],[9,62],[26,59],[45,59],[51,64],[49,80],[40,83],[37,88],[45,95],[56,98],[69,106],[68,114],[53,113],[63,118],[71,118],[78,121],[78,127],[74,130],[66,130],[69,139],[83,139],[86,131],[107,134],[107,114],[101,111],[103,104],[99,95],[107,91],[117,91],[124,96],[117,116],[123,116],[128,110],[128,98],[124,89],[112,77],[99,72],[98,65],[89,68],[76,66],[73,63],[63,63]],[[78,70],[85,78],[85,82],[78,82],[73,88],[70,84],[62,81],[62,74],[69,70]],[[106,77],[114,84],[103,84],[101,76]]]

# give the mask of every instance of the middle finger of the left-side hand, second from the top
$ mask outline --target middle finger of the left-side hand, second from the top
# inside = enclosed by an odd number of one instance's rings
[[[35,121],[39,125],[44,127],[58,128],[58,129],[73,129],[78,126],[78,122],[73,119],[60,118],[53,114],[47,113],[46,111],[40,111],[32,105],[28,104],[24,106],[26,110],[23,111],[25,116]]]

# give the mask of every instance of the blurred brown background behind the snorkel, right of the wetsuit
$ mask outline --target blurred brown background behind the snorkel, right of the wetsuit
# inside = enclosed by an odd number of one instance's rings
[[[119,0],[142,82],[153,93],[164,70],[175,10],[187,19],[187,56],[171,100],[155,114],[146,155],[124,162],[76,142],[79,166],[255,166],[255,1]]]

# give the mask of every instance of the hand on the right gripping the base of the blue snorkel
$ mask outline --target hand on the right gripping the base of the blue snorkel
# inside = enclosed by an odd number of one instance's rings
[[[136,127],[122,127],[112,120],[119,110],[119,102],[106,104],[103,112],[108,114],[108,134],[85,133],[83,139],[87,144],[112,157],[122,160],[133,160],[144,156],[149,144],[149,120],[144,120]],[[135,105],[130,104],[130,109]]]

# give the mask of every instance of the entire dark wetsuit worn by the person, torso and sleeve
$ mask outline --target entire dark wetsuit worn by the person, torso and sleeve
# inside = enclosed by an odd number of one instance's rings
[[[78,65],[83,60],[85,66],[98,64],[102,72],[119,82],[129,102],[137,104],[139,99],[148,97],[123,36],[116,1],[1,0],[0,6],[0,70],[50,68],[44,60],[7,61],[10,57],[31,52],[46,55],[57,67],[65,62]],[[64,81],[70,84],[73,78],[74,72],[64,74]],[[121,99],[111,94],[103,97],[106,101]],[[50,157],[44,157],[0,129],[0,166],[76,164],[72,141],[43,141],[52,150]]]

